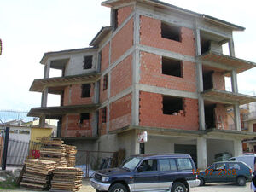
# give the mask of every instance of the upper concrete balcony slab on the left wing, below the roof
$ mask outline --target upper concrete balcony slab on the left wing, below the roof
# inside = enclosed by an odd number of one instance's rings
[[[49,87],[49,93],[59,94],[70,84],[90,84],[96,82],[100,73],[86,73],[58,78],[35,79],[30,87],[30,91],[42,92],[45,87]]]

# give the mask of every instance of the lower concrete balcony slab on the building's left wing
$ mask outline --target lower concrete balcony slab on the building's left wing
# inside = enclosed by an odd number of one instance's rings
[[[99,107],[100,104],[32,108],[29,113],[27,113],[27,116],[42,117],[45,115],[46,119],[60,119],[62,115],[67,113],[91,113],[96,111]]]

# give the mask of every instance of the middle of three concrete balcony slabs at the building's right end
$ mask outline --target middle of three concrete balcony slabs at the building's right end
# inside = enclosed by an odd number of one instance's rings
[[[247,96],[241,93],[234,93],[225,90],[205,90],[201,93],[206,101],[221,102],[224,104],[235,104],[239,103],[241,105],[250,102],[256,102],[255,96]]]

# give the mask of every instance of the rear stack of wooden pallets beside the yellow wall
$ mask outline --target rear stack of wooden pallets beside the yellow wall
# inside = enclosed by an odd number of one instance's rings
[[[53,160],[58,166],[67,166],[66,145],[61,139],[43,137],[40,143],[41,160]]]

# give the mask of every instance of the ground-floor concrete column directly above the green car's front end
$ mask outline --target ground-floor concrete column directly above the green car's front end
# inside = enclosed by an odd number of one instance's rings
[[[198,169],[207,168],[207,139],[205,137],[198,137],[197,143],[197,167]]]

